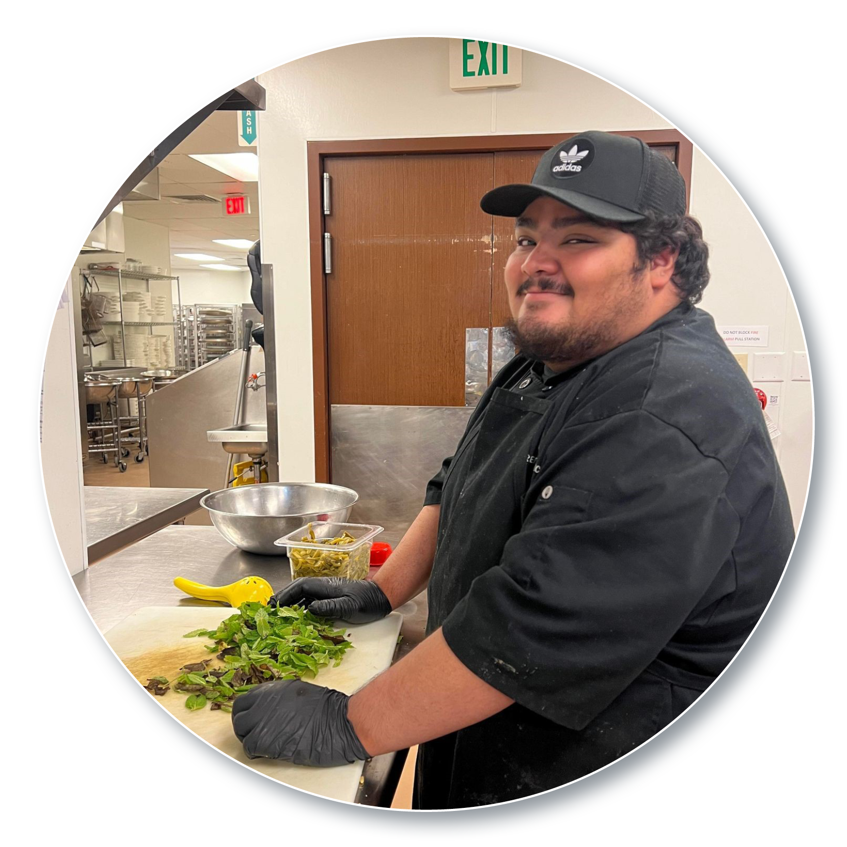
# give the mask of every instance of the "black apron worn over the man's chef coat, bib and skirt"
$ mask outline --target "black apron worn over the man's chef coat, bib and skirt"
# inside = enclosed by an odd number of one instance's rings
[[[579,380],[568,388],[576,393]],[[427,634],[440,627],[473,579],[499,562],[507,540],[520,529],[541,423],[550,411],[549,401],[497,387],[469,422],[444,480],[438,534],[440,560],[462,562],[462,567],[434,568]],[[661,667],[651,668],[642,684],[630,686],[579,732],[515,704],[420,745],[415,807],[498,803],[603,767],[667,726],[711,683],[696,674],[676,674],[677,684],[663,676]]]

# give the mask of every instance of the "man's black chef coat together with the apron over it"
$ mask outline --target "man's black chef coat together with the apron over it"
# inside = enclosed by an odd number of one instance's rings
[[[515,700],[421,745],[415,803],[512,800],[603,767],[727,667],[794,539],[759,401],[681,304],[564,374],[497,374],[440,503],[427,632]]]

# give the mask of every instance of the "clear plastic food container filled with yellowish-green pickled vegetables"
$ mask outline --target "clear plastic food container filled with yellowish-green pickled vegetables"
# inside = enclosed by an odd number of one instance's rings
[[[313,521],[274,541],[286,548],[291,579],[345,577],[366,579],[371,539],[382,527],[370,523]],[[306,540],[304,540],[306,539]]]

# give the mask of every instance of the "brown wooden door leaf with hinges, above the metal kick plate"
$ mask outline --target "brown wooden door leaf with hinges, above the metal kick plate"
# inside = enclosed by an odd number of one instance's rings
[[[331,403],[463,406],[490,325],[492,154],[327,158]]]

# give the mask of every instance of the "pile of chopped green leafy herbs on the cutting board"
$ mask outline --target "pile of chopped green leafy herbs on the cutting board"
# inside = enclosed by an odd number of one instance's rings
[[[174,691],[188,694],[185,707],[232,711],[232,701],[252,688],[274,679],[296,679],[316,674],[321,667],[339,665],[352,644],[343,629],[317,617],[300,606],[268,608],[261,603],[242,603],[236,615],[226,618],[217,629],[195,629],[184,638],[210,638],[206,645],[217,653],[224,667],[210,668],[212,659],[180,667],[173,681],[153,677],[144,687],[153,695]]]

